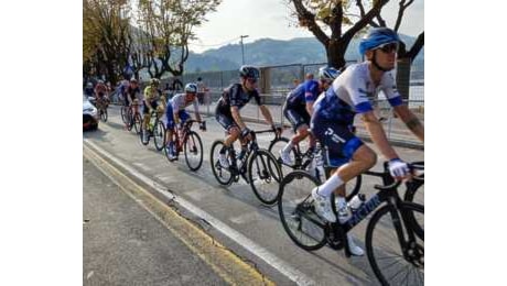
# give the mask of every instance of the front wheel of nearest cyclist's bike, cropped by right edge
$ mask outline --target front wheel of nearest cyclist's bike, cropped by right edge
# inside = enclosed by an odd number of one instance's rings
[[[424,207],[411,202],[384,206],[368,223],[366,253],[382,285],[424,285],[424,233],[416,235],[408,212],[423,230]]]

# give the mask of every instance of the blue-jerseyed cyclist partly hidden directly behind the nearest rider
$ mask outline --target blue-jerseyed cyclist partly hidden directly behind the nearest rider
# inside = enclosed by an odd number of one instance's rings
[[[319,69],[320,80],[308,78],[306,81],[299,85],[292,90],[285,99],[283,114],[291,122],[294,135],[280,150],[280,157],[284,164],[292,165],[290,156],[292,147],[309,135],[310,117],[313,113],[313,102],[322,91],[325,91],[333,80],[339,75],[339,72],[333,67],[321,67]],[[315,147],[315,139],[310,134],[310,147]]]

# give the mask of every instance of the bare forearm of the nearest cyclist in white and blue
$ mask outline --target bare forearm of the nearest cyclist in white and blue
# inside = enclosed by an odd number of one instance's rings
[[[389,141],[387,140],[386,132],[382,128],[382,123],[378,121],[374,111],[371,110],[362,113],[362,120],[365,123],[366,130],[368,130],[375,145],[378,146],[380,153],[386,157],[386,160],[390,161],[393,158],[399,158],[398,154],[391,147]]]

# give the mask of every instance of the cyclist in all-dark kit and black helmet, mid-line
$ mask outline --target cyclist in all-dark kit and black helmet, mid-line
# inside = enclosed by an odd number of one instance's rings
[[[229,135],[224,141],[224,147],[219,151],[218,160],[223,167],[229,167],[226,151],[234,142],[241,138],[241,155],[245,153],[247,140],[250,140],[250,130],[244,123],[239,110],[254,98],[259,106],[262,117],[276,130],[269,109],[260,102],[257,80],[260,77],[259,69],[254,66],[244,65],[239,68],[240,82],[234,84],[224,90],[215,110],[215,118]]]

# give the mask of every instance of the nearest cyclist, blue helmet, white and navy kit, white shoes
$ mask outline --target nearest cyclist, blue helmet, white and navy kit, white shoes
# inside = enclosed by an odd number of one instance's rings
[[[330,178],[312,190],[317,213],[327,221],[336,221],[331,208],[331,194],[337,195],[338,221],[348,219],[344,188],[346,182],[371,168],[377,162],[376,153],[349,130],[354,117],[359,113],[366,130],[380,153],[389,161],[389,170],[396,179],[410,176],[407,163],[401,161],[389,144],[382,124],[375,116],[368,98],[379,90],[386,95],[395,112],[421,141],[424,142],[424,127],[408,109],[397,90],[391,70],[395,68],[399,37],[387,28],[370,30],[359,43],[359,53],[366,61],[355,64],[336,78],[313,108],[311,130],[327,146],[330,166],[338,167]],[[364,251],[348,237],[350,252],[363,255]]]

